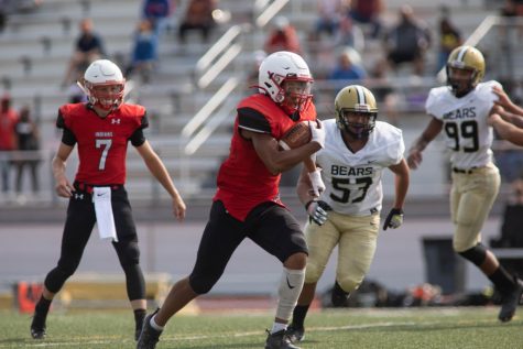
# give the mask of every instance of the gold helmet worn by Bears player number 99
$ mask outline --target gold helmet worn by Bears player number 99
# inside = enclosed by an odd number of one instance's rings
[[[456,97],[470,92],[484,77],[484,58],[472,46],[453,50],[447,61],[447,85]]]

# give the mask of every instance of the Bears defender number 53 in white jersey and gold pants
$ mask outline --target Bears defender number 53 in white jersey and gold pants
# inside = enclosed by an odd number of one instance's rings
[[[377,121],[372,92],[359,85],[347,86],[335,100],[336,119],[325,120],[325,148],[316,153],[326,189],[319,198],[310,194],[304,170],[297,193],[310,217],[305,227],[309,249],[305,284],[287,329],[291,340],[304,337],[304,320],[316,284],[338,246],[338,265],[333,305],[345,306],[358,288],[374,258],[383,200],[383,168],[395,175],[395,201],[383,229],[403,222],[403,203],[408,188],[408,166],[403,159],[402,131]]]

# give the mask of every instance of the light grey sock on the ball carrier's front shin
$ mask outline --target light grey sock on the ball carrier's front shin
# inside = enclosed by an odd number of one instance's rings
[[[305,269],[290,270],[284,268],[283,275],[277,290],[279,302],[276,308],[276,318],[288,320],[296,306],[299,293],[302,293],[303,282],[305,281]]]

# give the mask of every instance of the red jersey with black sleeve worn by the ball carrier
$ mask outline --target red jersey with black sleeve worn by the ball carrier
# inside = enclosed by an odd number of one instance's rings
[[[221,200],[232,217],[244,220],[252,208],[265,201],[284,206],[279,190],[281,175],[269,172],[252,142],[243,139],[239,129],[270,133],[280,140],[296,122],[316,120],[315,106],[308,106],[301,112],[298,120],[293,120],[268,96],[253,95],[240,101],[238,110],[243,123],[237,116],[230,153],[220,166],[218,190],[214,198]]]

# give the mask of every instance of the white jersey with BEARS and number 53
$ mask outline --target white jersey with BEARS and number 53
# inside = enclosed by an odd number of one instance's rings
[[[336,119],[323,121],[325,148],[316,153],[326,189],[322,200],[339,214],[367,216],[381,211],[382,171],[399,164],[405,144],[402,131],[386,122],[377,121],[367,144],[352,153],[341,138]]]

